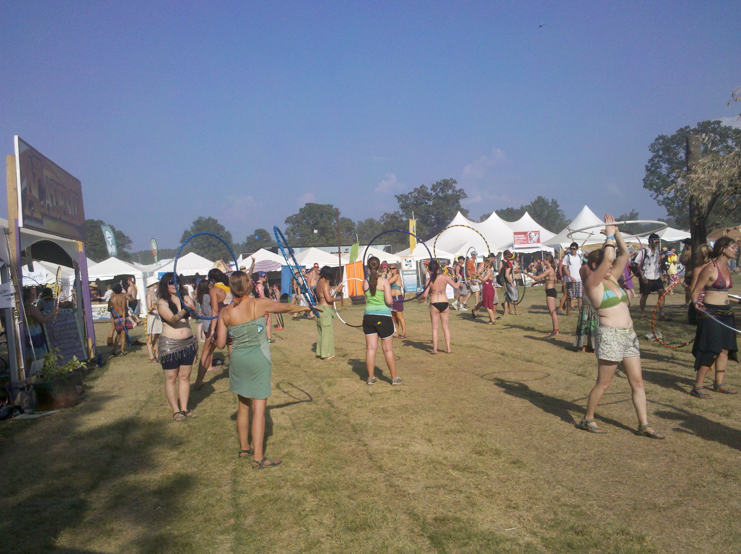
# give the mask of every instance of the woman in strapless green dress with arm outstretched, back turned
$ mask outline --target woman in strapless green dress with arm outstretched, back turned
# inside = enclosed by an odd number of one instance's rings
[[[253,456],[256,469],[275,467],[280,460],[265,458],[265,406],[270,396],[270,346],[265,314],[296,314],[309,311],[308,306],[282,304],[270,298],[253,298],[250,277],[234,271],[229,277],[234,301],[219,311],[216,348],[224,348],[227,334],[232,340],[229,361],[229,390],[236,392],[239,408],[236,432],[239,435],[239,457]],[[250,448],[250,407],[252,408],[252,443]]]

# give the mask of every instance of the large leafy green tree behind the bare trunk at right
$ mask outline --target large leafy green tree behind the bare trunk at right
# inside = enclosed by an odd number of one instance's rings
[[[679,182],[685,174],[685,141],[688,135],[702,135],[702,155],[726,156],[741,148],[741,129],[723,125],[720,121],[702,121],[697,127],[682,127],[671,136],[659,135],[648,147],[651,159],[645,165],[643,188],[651,191],[659,205],[666,208],[681,228],[689,228],[687,194]],[[708,203],[712,212],[716,199]]]

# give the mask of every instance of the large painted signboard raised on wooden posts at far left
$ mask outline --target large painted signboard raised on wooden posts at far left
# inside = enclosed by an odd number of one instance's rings
[[[16,136],[18,225],[87,240],[82,183]]]

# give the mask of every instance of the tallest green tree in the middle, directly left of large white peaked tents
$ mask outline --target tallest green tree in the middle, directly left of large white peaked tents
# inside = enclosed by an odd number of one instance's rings
[[[389,214],[387,220],[402,222],[411,219],[414,214],[417,234],[425,238],[438,234],[457,212],[468,216],[468,210],[461,205],[461,200],[468,198],[468,194],[456,185],[456,179],[440,179],[430,188],[420,185],[407,194],[396,194],[399,210]],[[408,229],[408,225],[397,228]]]

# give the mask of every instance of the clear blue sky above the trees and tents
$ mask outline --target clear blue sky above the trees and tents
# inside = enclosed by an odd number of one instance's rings
[[[448,177],[473,217],[539,194],[664,216],[648,145],[734,122],[741,3],[516,4],[5,1],[0,144],[81,179],[134,249],[307,201],[377,217]]]

